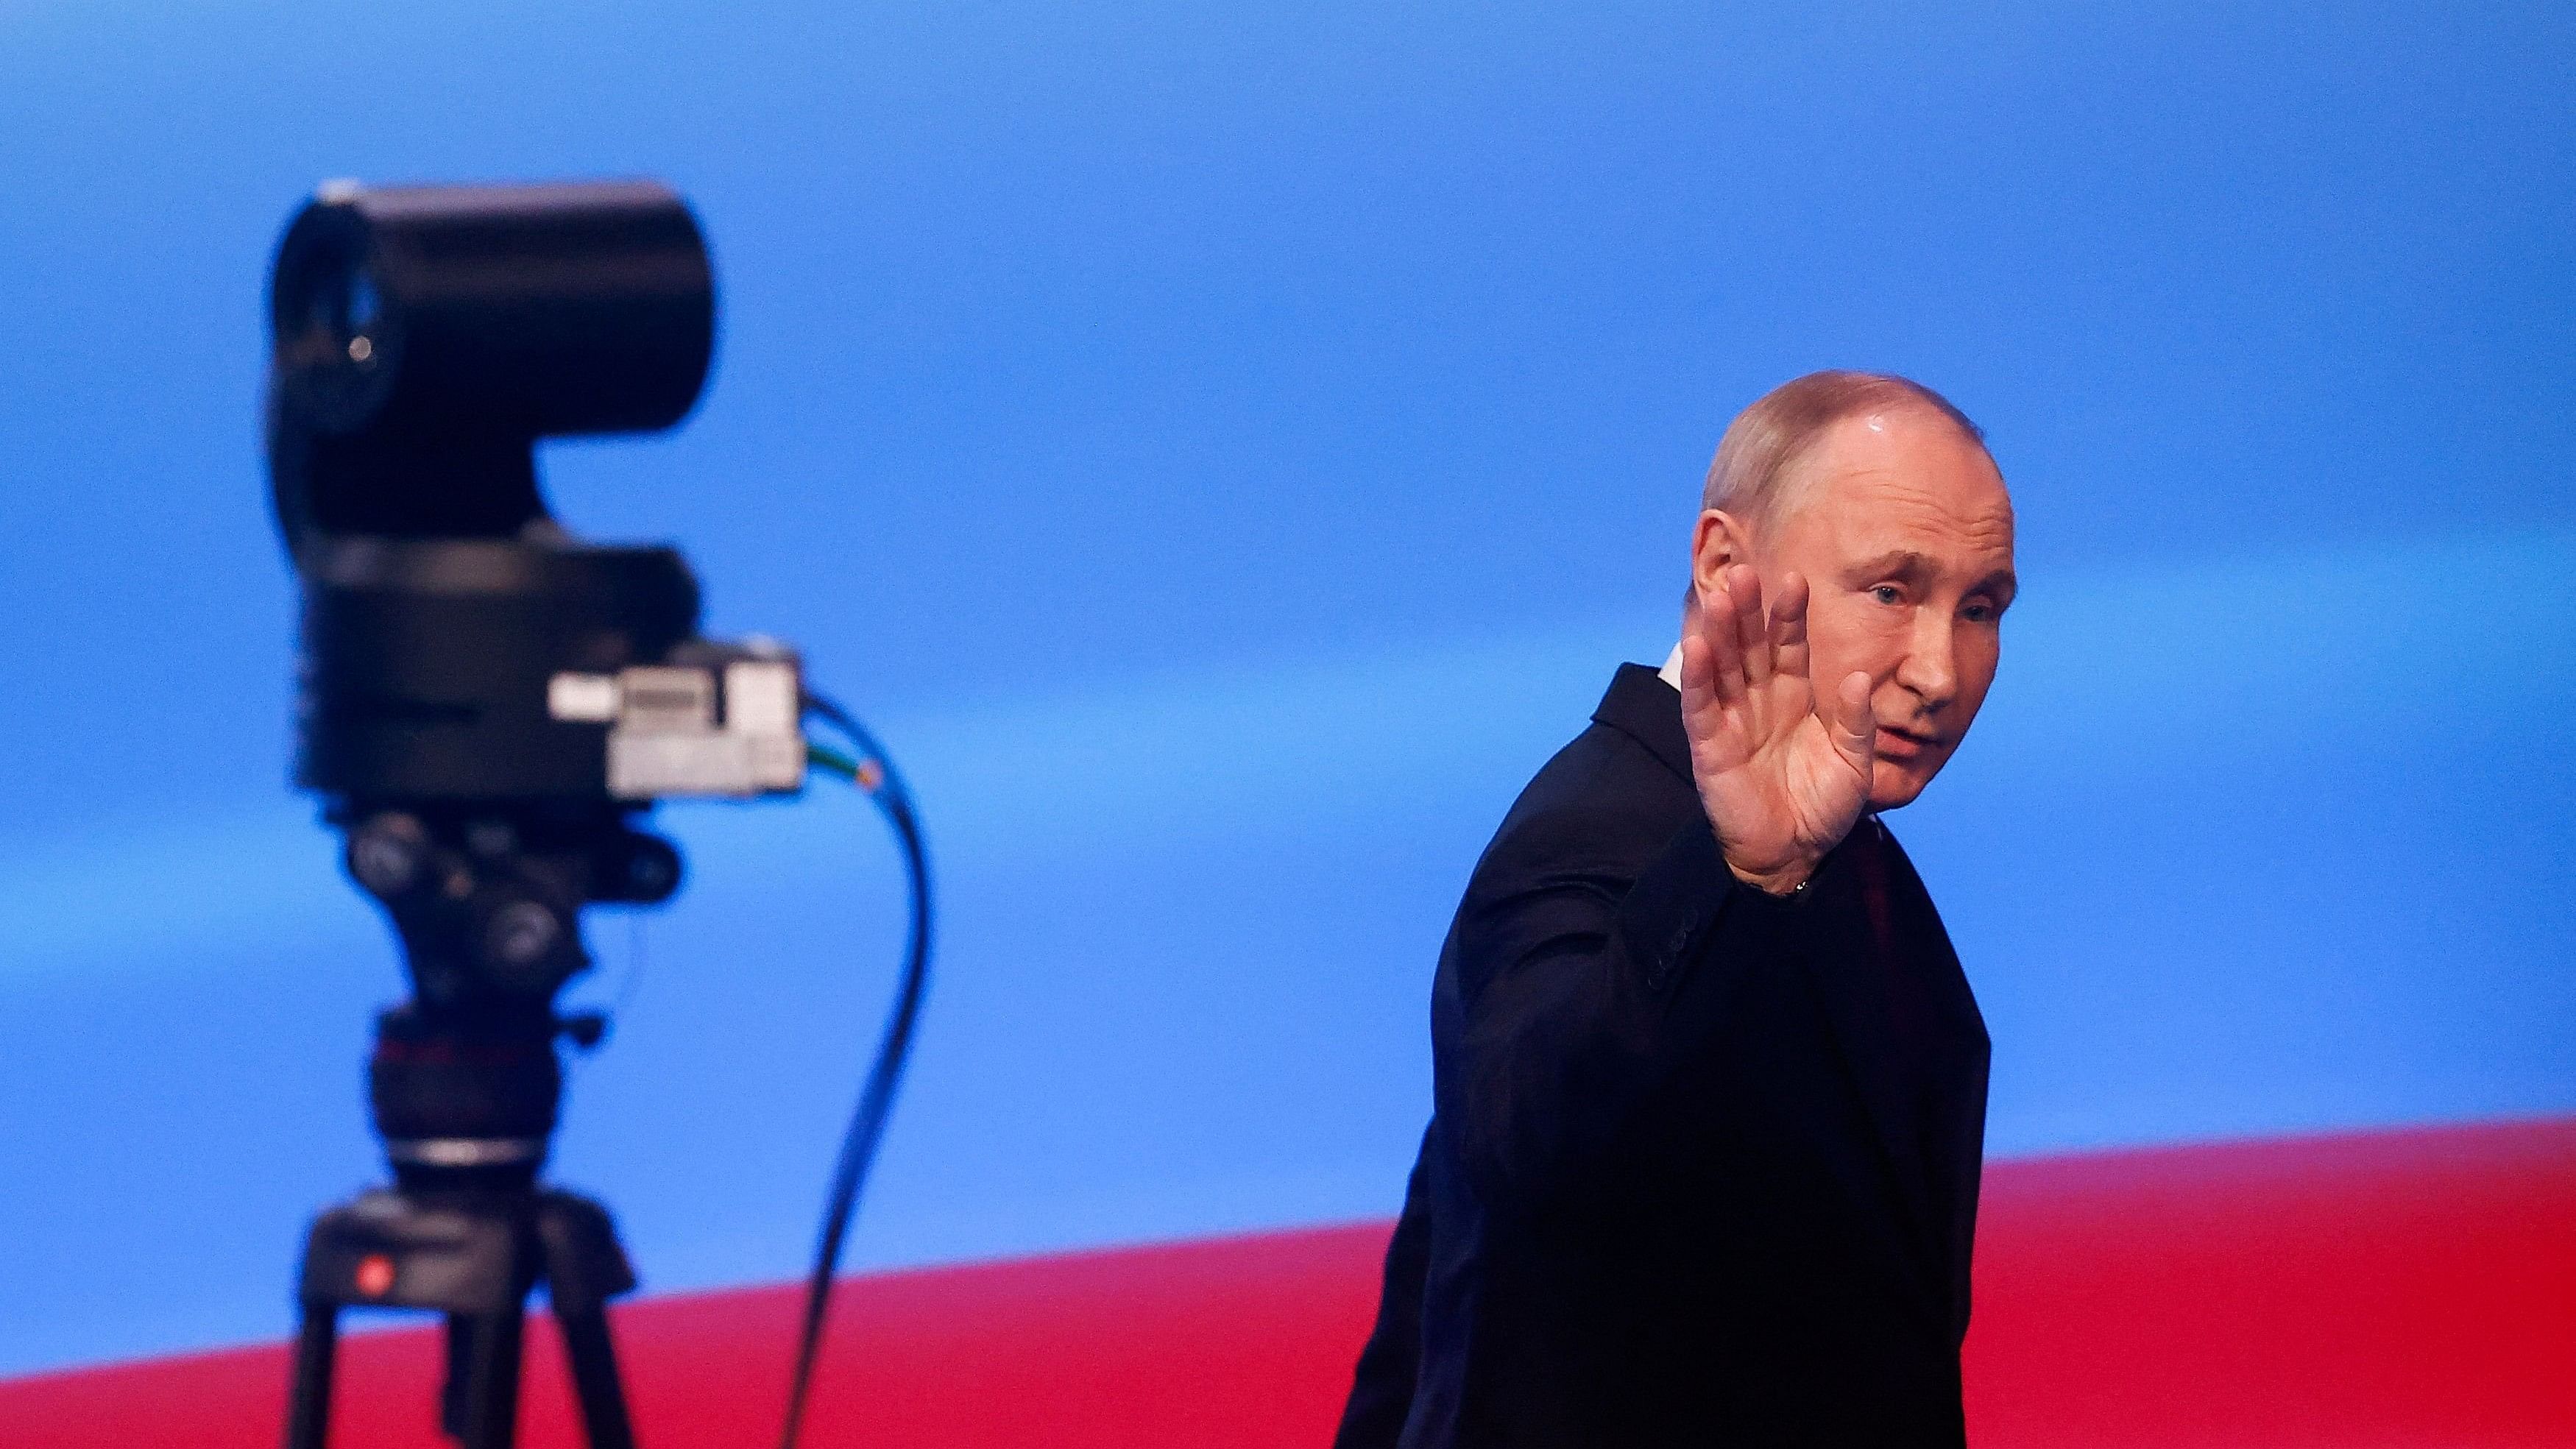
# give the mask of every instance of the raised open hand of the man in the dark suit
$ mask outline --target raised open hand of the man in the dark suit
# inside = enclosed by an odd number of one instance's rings
[[[1806,579],[1783,577],[1767,615],[1744,564],[1700,589],[1682,625],[1690,772],[1726,865],[1770,893],[1795,891],[1870,803],[1870,677],[1819,710],[1806,669]]]

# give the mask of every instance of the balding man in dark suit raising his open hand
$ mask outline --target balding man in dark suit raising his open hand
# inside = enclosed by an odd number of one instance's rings
[[[1814,373],[1690,569],[1458,906],[1340,1449],[1965,1439],[1989,1045],[1878,813],[1994,682],[2012,499],[1929,389]]]

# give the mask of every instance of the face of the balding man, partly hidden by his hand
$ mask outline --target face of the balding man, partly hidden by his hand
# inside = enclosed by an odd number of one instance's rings
[[[1929,409],[1829,427],[1785,479],[1788,512],[1757,538],[1765,597],[1806,574],[1808,679],[1829,700],[1870,677],[1870,806],[1922,795],[1986,703],[2012,602],[2012,497],[1986,450]]]

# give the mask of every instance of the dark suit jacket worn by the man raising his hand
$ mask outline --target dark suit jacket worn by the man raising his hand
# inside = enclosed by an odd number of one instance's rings
[[[1986,1027],[1896,839],[1741,885],[1628,664],[1440,950],[1340,1449],[1963,1441]]]

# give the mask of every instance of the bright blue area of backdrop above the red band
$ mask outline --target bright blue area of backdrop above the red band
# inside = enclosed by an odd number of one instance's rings
[[[1922,376],[2025,595],[1893,824],[1996,1153],[2576,1109],[2576,10],[26,0],[0,15],[0,1372],[276,1336],[389,942],[255,448],[322,178],[662,175],[716,381],[546,456],[894,744],[940,986],[858,1264],[1391,1212],[1484,834],[1698,474]],[[559,1174],[788,1277],[891,986],[845,793],[665,811]]]

